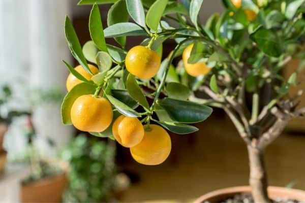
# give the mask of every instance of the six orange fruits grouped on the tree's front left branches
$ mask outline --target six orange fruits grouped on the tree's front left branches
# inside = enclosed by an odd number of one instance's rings
[[[210,68],[203,62],[190,64],[193,45],[189,45],[183,53],[185,69],[191,76],[205,75]],[[161,59],[159,55],[143,46],[133,47],[126,56],[126,69],[141,79],[150,79],[159,71]],[[88,65],[93,75],[99,73],[94,65]],[[93,75],[86,72],[81,65],[75,67],[80,75],[90,80]],[[67,78],[67,90],[81,83],[73,74]],[[101,94],[100,94],[101,95]],[[107,98],[85,94],[79,96],[71,108],[71,121],[82,131],[103,132],[112,123],[112,106]],[[138,118],[124,115],[115,119],[112,124],[112,133],[115,140],[122,146],[130,148],[132,157],[139,163],[146,165],[160,164],[166,160],[171,151],[171,140],[167,131],[155,124],[142,125]]]

